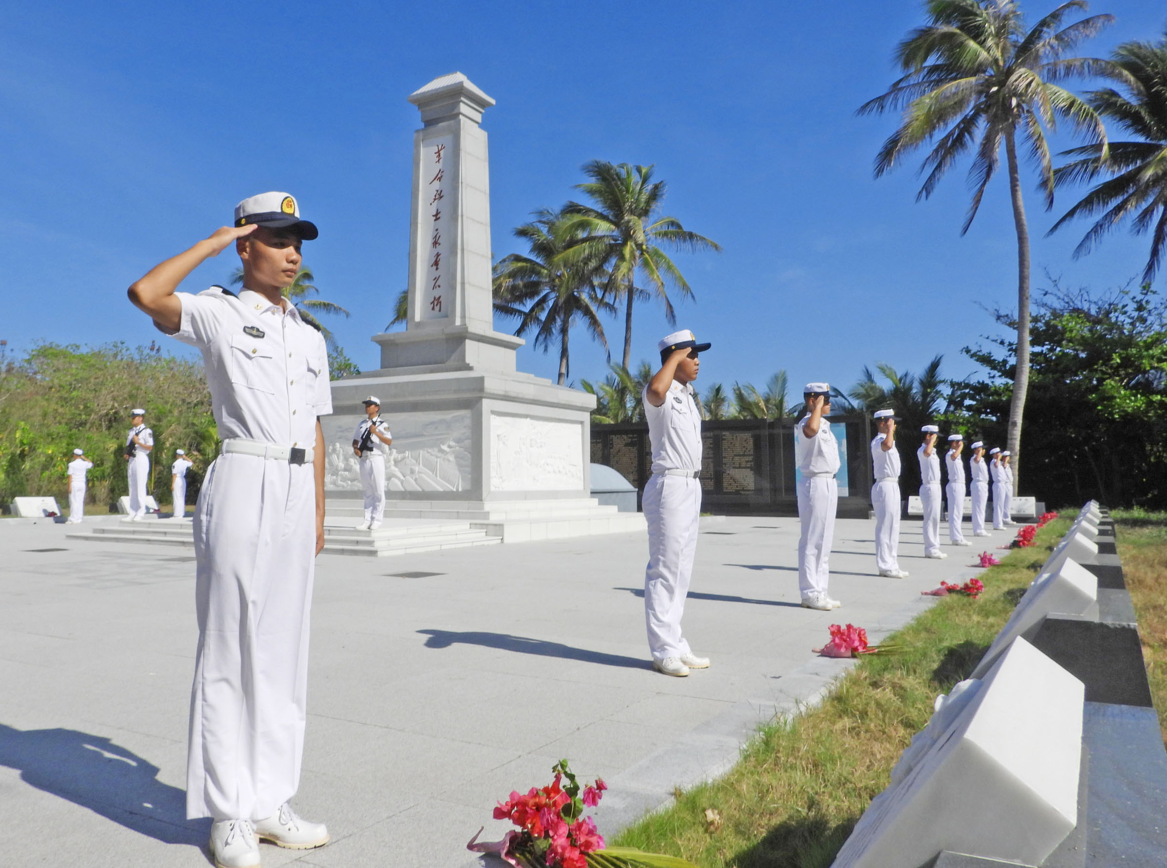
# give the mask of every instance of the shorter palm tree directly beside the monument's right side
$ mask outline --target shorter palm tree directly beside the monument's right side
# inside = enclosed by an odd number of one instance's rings
[[[569,355],[567,341],[572,326],[581,322],[588,332],[608,349],[600,312],[607,302],[598,280],[606,275],[599,257],[581,258],[565,264],[560,258],[567,245],[579,237],[579,229],[564,219],[561,211],[543,208],[531,223],[515,230],[515,237],[527,243],[531,256],[511,253],[495,264],[495,312],[517,318],[517,336],[534,332],[536,348],[544,352],[559,344],[559,385],[567,382]]]

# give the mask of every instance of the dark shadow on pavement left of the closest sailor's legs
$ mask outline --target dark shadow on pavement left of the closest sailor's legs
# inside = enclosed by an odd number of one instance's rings
[[[0,723],[0,765],[26,784],[86,807],[163,844],[202,848],[210,820],[187,820],[187,793],[158,779],[158,766],[109,738],[76,729]]]

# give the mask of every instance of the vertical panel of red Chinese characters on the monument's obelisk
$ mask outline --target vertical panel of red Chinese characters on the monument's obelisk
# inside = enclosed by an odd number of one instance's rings
[[[457,177],[454,139],[443,135],[431,139],[421,153],[421,201],[419,214],[427,215],[422,225],[429,228],[428,240],[422,236],[421,260],[426,264],[421,280],[421,318],[449,316],[454,303],[454,281],[449,273],[454,254],[454,183]]]

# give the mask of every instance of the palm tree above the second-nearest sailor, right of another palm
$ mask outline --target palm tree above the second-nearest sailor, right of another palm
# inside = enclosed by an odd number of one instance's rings
[[[568,202],[564,214],[572,229],[579,232],[575,244],[564,252],[565,264],[599,258],[608,270],[605,293],[613,301],[624,301],[623,366],[631,364],[633,302],[637,298],[661,299],[664,315],[670,323],[677,316],[665,292],[672,284],[683,298],[692,298],[680,270],[663,247],[683,251],[721,250],[705,236],[689,232],[676,217],[659,215],[664,200],[664,181],[652,182],[652,167],[614,166],[593,160],[584,167],[592,181],[576,184],[592,200],[592,205]],[[648,292],[635,286],[640,273],[648,280]]]

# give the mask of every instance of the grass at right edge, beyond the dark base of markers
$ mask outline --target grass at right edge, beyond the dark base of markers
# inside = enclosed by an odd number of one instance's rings
[[[1134,601],[1142,660],[1167,742],[1167,512],[1114,510],[1118,554]]]

